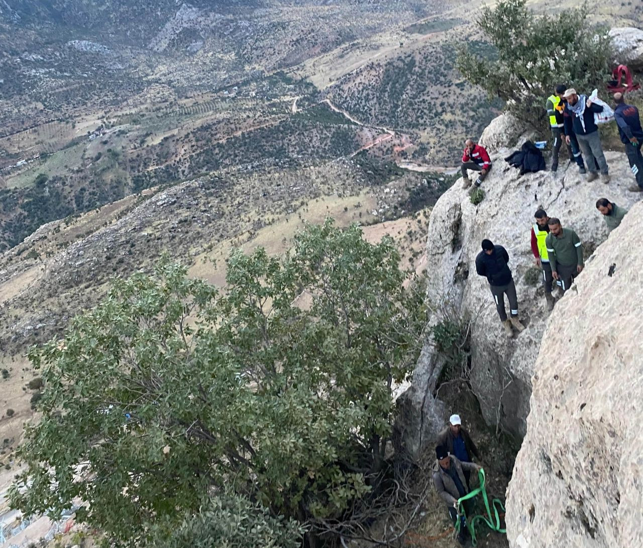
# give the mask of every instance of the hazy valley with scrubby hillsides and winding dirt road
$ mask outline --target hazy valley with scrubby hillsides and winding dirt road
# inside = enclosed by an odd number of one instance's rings
[[[640,26],[631,4],[592,9]],[[493,59],[480,7],[0,0],[7,477],[42,389],[29,347],[95,307],[113,277],[166,254],[224,286],[233,248],[282,255],[327,216],[369,241],[390,234],[422,272],[431,206],[464,139],[503,107],[455,69],[458,42]]]

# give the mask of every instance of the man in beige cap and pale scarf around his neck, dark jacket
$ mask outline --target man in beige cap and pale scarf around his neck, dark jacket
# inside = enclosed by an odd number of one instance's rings
[[[590,170],[588,181],[594,181],[598,178],[595,167],[596,163],[598,163],[603,183],[609,183],[610,170],[607,160],[605,160],[605,154],[602,151],[599,128],[594,121],[594,114],[602,113],[603,107],[593,104],[592,100],[586,95],[578,95],[573,87],[567,89],[563,97],[567,100],[565,113],[568,116],[565,116],[564,122],[567,144],[571,142],[572,133],[575,134],[587,162],[587,169]]]

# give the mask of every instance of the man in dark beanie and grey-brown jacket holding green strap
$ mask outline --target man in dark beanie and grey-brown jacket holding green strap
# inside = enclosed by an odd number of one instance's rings
[[[482,468],[473,462],[460,462],[457,457],[449,455],[449,451],[444,445],[435,448],[437,457],[433,465],[433,485],[440,497],[444,499],[449,509],[449,516],[453,522],[458,519],[458,498],[464,497],[469,493],[467,481],[464,478],[464,470],[477,472]],[[471,500],[466,500],[464,504],[465,512],[471,515],[473,504]],[[462,545],[467,542],[467,527],[464,516],[460,516],[460,531],[458,533],[458,542]]]

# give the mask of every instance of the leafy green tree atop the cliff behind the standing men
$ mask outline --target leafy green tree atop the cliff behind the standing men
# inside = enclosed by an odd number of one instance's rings
[[[482,8],[478,26],[495,54],[458,47],[456,66],[489,96],[509,102],[514,113],[535,124],[545,120],[545,98],[557,84],[592,91],[606,80],[613,52],[606,28],[587,20],[587,5],[538,15],[527,0],[501,0]]]

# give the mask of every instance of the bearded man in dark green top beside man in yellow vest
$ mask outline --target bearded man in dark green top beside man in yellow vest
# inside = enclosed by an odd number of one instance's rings
[[[574,230],[561,226],[560,219],[551,217],[547,225],[549,235],[545,238],[545,245],[552,277],[565,293],[583,271],[583,244]]]

